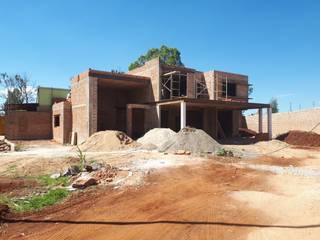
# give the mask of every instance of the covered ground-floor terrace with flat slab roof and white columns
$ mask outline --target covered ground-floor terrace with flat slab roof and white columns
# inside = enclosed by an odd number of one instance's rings
[[[153,119],[153,127],[171,128],[179,131],[187,126],[203,129],[216,139],[239,135],[242,127],[242,111],[257,109],[259,133],[263,133],[263,109],[267,110],[267,133],[272,138],[272,111],[269,104],[179,98],[150,104],[127,104],[127,127],[129,136],[141,136]],[[151,115],[156,115],[152,117]]]

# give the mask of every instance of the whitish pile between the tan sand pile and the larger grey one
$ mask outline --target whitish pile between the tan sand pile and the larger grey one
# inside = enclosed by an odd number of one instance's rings
[[[143,145],[153,144],[156,147],[160,147],[175,134],[176,132],[172,131],[170,128],[154,128],[148,131],[143,137],[139,138],[137,142]]]

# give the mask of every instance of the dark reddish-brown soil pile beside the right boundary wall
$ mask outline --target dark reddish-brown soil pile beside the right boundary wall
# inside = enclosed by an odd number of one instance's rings
[[[276,139],[295,146],[320,147],[320,135],[313,132],[289,131]]]

